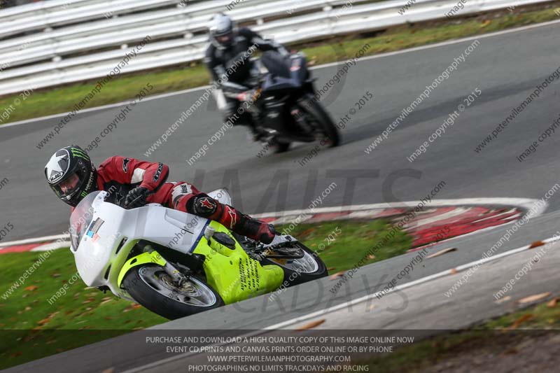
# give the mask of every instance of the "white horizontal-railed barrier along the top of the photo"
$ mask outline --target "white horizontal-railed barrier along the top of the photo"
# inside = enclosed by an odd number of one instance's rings
[[[463,0],[464,1],[464,0]],[[456,15],[552,0],[466,0]],[[408,8],[404,8],[406,4]],[[280,43],[444,18],[458,0],[52,0],[0,10],[0,95],[202,59],[211,14]],[[229,10],[228,10],[229,9]],[[29,34],[31,33],[31,34]],[[150,38],[141,50],[135,45]]]

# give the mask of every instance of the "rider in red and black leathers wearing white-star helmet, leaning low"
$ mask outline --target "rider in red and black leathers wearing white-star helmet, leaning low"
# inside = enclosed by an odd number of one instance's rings
[[[114,156],[95,169],[90,156],[79,146],[58,150],[45,166],[50,188],[59,199],[76,207],[95,190],[111,190],[106,201],[134,209],[148,203],[216,220],[233,232],[269,244],[276,231],[272,225],[255,220],[200,192],[186,181],[167,182],[169,167]]]

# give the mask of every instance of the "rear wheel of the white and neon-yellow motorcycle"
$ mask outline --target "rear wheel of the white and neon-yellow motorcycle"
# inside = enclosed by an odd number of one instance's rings
[[[327,267],[323,260],[318,255],[305,247],[299,242],[295,244],[297,248],[304,251],[304,257],[301,259],[286,260],[265,258],[262,260],[262,265],[277,265],[283,269],[284,281],[287,281],[289,286],[297,285],[300,283],[314,281],[328,276]]]

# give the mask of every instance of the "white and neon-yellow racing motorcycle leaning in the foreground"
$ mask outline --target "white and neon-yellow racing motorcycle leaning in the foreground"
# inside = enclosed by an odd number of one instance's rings
[[[200,216],[148,204],[126,210],[93,192],[70,218],[71,252],[87,286],[169,319],[327,275],[290,235],[262,244]],[[209,193],[231,204],[225,189]]]

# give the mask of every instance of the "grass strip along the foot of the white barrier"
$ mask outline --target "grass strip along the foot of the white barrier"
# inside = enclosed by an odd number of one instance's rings
[[[505,11],[505,15],[499,16],[492,13],[475,18],[443,22],[442,24],[395,27],[369,38],[356,38],[356,36],[332,38],[331,41],[308,45],[302,50],[309,57],[311,64],[323,64],[353,57],[366,43],[370,44],[370,48],[365,52],[365,55],[374,55],[555,19],[558,19],[558,16],[554,13],[554,8],[544,10],[519,8],[514,13]],[[102,92],[87,103],[85,108],[134,99],[134,96],[147,83],[151,83],[154,87],[150,94],[158,94],[199,87],[208,82],[209,75],[204,66],[195,63],[180,68],[175,67],[167,71],[121,76],[111,80]],[[81,101],[87,95],[87,92],[92,90],[93,86],[93,82],[78,83],[34,92],[27,99],[21,101],[20,105],[13,106],[13,111],[9,109],[11,111],[10,118],[5,122],[15,122],[41,115],[71,111],[72,107]],[[1,98],[0,113],[10,108],[10,105],[14,105],[14,100],[18,98],[21,97],[13,95]]]

